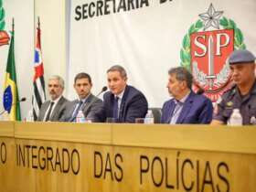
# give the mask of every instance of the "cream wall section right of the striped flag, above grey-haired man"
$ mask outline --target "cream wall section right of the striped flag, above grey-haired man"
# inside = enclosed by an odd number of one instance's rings
[[[35,0],[35,27],[37,27],[37,16],[41,23],[45,80],[47,82],[48,78],[55,74],[65,80],[66,0]]]

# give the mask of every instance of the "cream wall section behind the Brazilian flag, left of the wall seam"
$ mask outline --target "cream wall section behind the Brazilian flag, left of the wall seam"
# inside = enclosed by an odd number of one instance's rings
[[[15,19],[15,59],[16,79],[19,97],[27,97],[21,103],[22,114],[27,112],[31,101],[33,58],[34,58],[34,0],[26,3],[19,0],[3,1],[5,9],[5,31],[12,29],[12,18]],[[3,91],[5,69],[9,46],[0,48],[0,111],[3,110]]]

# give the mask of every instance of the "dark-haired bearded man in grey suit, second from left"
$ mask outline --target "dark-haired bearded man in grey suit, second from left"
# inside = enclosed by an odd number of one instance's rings
[[[76,122],[79,111],[83,112],[85,118],[93,119],[94,113],[100,109],[102,101],[91,94],[91,87],[91,76],[89,74],[81,72],[76,75],[74,89],[79,98],[70,102],[64,115],[64,122]]]

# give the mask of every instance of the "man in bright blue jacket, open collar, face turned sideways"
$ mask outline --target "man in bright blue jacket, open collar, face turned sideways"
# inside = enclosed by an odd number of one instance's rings
[[[167,88],[173,98],[165,101],[161,123],[210,123],[212,102],[192,91],[192,74],[183,67],[170,69]]]

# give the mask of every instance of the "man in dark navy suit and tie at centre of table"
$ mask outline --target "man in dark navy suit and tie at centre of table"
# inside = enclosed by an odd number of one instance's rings
[[[134,123],[135,118],[144,118],[147,101],[141,91],[127,85],[127,75],[122,66],[115,65],[107,70],[110,91],[103,95],[101,111],[96,113],[99,122],[115,118],[118,123]]]

